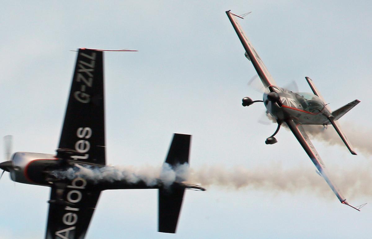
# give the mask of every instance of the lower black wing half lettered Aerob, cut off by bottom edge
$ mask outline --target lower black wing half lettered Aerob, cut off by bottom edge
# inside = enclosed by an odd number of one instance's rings
[[[83,185],[51,188],[46,239],[84,238],[101,191]]]

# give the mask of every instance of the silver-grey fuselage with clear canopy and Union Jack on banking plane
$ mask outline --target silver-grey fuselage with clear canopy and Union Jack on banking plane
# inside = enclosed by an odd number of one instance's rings
[[[331,116],[331,112],[318,96],[311,93],[294,93],[274,85],[270,87],[273,92],[269,93],[269,89],[265,91],[263,103],[278,122],[293,119],[302,125],[330,124],[328,117]]]

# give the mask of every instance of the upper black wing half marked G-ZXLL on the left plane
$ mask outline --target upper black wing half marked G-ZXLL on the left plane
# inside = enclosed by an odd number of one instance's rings
[[[79,49],[59,144],[70,159],[105,165],[104,106],[103,52]]]

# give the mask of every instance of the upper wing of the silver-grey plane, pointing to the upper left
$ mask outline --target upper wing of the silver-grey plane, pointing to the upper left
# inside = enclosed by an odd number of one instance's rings
[[[244,49],[246,50],[246,57],[252,62],[254,69],[256,69],[257,74],[259,75],[262,84],[265,88],[269,87],[270,85],[276,85],[274,79],[270,75],[269,71],[267,70],[266,66],[263,64],[260,56],[257,54],[256,50],[253,48],[252,43],[249,41],[246,35],[244,35],[241,26],[238,23],[237,16],[234,13],[231,13],[230,10],[226,12],[228,18],[232,26],[235,29],[241,43],[243,44]],[[242,17],[240,17],[242,18]]]

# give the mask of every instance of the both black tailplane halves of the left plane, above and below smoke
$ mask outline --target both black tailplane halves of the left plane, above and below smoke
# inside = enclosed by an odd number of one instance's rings
[[[191,135],[175,133],[166,163],[172,168],[189,162]],[[159,188],[159,232],[176,233],[185,186],[173,183],[169,188]]]

